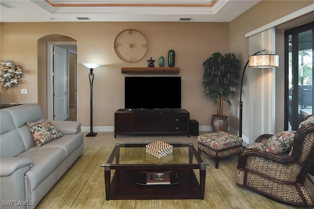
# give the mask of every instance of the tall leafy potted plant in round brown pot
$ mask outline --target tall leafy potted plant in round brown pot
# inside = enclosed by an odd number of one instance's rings
[[[234,88],[238,84],[240,61],[234,53],[222,55],[214,52],[203,65],[204,93],[217,104],[217,114],[212,115],[212,129],[214,132],[228,131],[228,116],[223,114],[223,104],[231,106],[228,96],[234,94]]]

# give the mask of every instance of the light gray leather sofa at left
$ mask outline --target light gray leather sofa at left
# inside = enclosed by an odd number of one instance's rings
[[[63,136],[37,148],[26,122],[44,121],[38,104],[0,110],[1,209],[35,208],[83,152],[80,123],[73,121],[51,121]]]

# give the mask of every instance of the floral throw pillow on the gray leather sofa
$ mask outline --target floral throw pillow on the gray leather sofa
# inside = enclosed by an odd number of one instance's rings
[[[26,122],[29,131],[31,132],[37,148],[42,145],[63,136],[50,121],[35,123],[35,122]]]

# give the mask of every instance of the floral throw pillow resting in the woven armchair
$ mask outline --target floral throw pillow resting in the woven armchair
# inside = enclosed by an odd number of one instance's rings
[[[272,135],[266,142],[266,152],[283,154],[293,145],[295,131],[283,131]]]

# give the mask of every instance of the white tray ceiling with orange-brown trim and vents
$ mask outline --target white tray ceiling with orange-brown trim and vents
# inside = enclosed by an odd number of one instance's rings
[[[0,22],[230,22],[260,0],[0,0]]]

